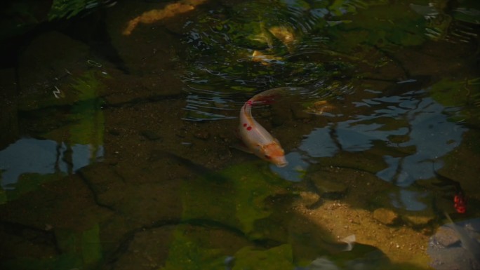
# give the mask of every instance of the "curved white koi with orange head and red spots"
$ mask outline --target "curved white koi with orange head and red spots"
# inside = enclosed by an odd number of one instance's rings
[[[241,150],[253,153],[265,161],[274,163],[277,167],[288,165],[285,151],[281,147],[279,140],[276,140],[260,123],[253,119],[252,106],[254,104],[267,104],[276,95],[283,93],[284,90],[286,90],[285,87],[265,90],[247,100],[240,110],[238,130],[239,137],[245,144],[244,149]]]

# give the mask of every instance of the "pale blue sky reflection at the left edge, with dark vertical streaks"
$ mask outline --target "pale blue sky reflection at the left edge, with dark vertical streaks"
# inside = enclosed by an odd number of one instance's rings
[[[24,173],[74,173],[102,156],[102,146],[23,138],[0,151],[1,187],[14,189]]]

